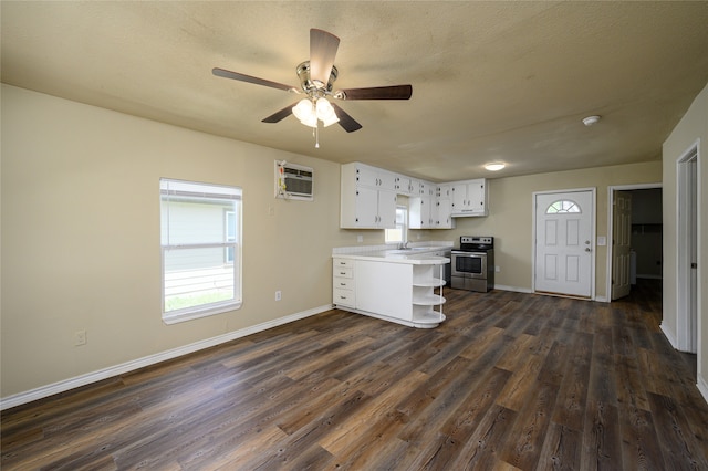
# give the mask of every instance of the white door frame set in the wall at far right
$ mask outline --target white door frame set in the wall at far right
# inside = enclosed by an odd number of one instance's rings
[[[694,216],[687,217],[685,208],[688,205],[690,170],[689,161],[696,160],[696,201],[694,208],[696,229],[691,229],[691,220]],[[676,349],[680,352],[696,353],[701,348],[701,264],[698,260],[698,269],[696,272],[696,318],[691,317],[689,308],[691,296],[690,283],[690,242],[696,238],[696,249],[698,257],[701,254],[701,238],[699,236],[701,228],[701,159],[700,159],[700,139],[696,140],[688,149],[686,149],[676,159]],[[696,341],[691,335],[691,329],[696,329]],[[698,355],[698,370],[701,368],[701,357]]]

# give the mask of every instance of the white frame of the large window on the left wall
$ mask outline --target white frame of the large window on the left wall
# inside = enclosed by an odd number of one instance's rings
[[[174,189],[170,189],[173,184]],[[194,191],[197,190],[197,191]],[[199,191],[201,190],[201,191]],[[175,198],[171,198],[175,197]],[[235,311],[242,305],[242,217],[243,217],[243,203],[242,203],[243,190],[240,187],[190,181],[190,180],[177,180],[173,178],[159,179],[159,205],[160,205],[160,305],[162,305],[162,318],[165,324],[175,324],[185,321],[191,321],[210,315],[221,314],[229,311]],[[178,238],[170,240],[170,230],[174,230],[169,226],[170,217],[170,202],[192,202],[197,205],[215,203],[215,201],[222,201],[223,208],[221,211],[221,220],[223,227],[221,229],[221,241],[208,241],[208,234],[205,236],[205,240],[180,241]],[[227,208],[230,202],[231,207]],[[173,209],[174,211],[174,209]],[[229,240],[229,213],[232,212],[235,232],[233,240]],[[197,250],[200,249],[217,249],[221,253],[222,266],[228,269],[228,272],[232,275],[233,284],[229,287],[232,289],[231,297],[227,300],[220,300],[215,302],[205,302],[201,304],[190,305],[187,307],[175,308],[166,311],[167,306],[167,271],[166,262],[169,252],[177,252],[179,250]],[[229,261],[229,250],[233,254],[232,261]],[[218,263],[217,263],[218,264]],[[207,266],[207,269],[210,266]],[[205,268],[201,268],[204,270]],[[198,268],[195,271],[200,270]],[[208,280],[208,279],[207,279]]]

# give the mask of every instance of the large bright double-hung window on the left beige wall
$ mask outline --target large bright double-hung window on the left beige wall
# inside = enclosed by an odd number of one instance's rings
[[[160,179],[163,321],[241,306],[241,189]]]

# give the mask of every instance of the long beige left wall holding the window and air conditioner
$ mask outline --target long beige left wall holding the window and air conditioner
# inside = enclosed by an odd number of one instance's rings
[[[273,198],[275,159],[314,168],[313,202]],[[243,188],[240,310],[162,322],[160,177]],[[333,163],[3,85],[1,396],[330,304],[356,243],[339,187]]]

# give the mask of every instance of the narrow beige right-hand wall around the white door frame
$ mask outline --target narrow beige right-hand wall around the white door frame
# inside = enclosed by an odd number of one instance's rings
[[[708,144],[708,85],[698,94],[688,112],[674,128],[670,136],[664,143],[664,318],[662,328],[669,337],[677,338],[677,290],[676,290],[676,263],[677,263],[677,222],[676,222],[676,161],[700,139],[698,148],[698,186],[699,186],[699,228],[698,239],[702,243],[702,253],[698,260],[698,383],[701,393],[708,400],[708,276],[704,268],[708,266],[708,163],[706,161],[706,145]]]

